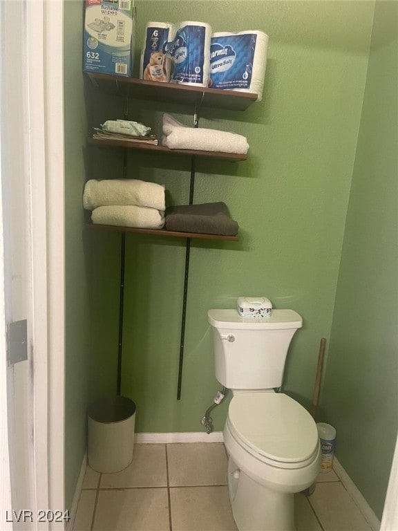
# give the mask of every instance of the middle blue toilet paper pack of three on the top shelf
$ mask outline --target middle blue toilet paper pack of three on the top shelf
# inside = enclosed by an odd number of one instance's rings
[[[174,63],[171,83],[207,86],[210,80],[211,26],[184,21],[176,27],[175,38],[166,52]]]

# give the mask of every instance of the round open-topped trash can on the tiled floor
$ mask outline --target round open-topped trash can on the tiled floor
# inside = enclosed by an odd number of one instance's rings
[[[91,404],[88,416],[88,465],[97,472],[120,472],[133,460],[135,404],[113,396]]]

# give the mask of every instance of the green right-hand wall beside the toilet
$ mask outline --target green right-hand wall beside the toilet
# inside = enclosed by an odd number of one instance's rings
[[[398,4],[377,1],[322,406],[381,518],[398,420]]]

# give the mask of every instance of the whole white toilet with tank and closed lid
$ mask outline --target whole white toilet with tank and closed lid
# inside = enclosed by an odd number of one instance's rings
[[[239,531],[294,531],[294,493],[321,469],[316,424],[282,384],[287,349],[301,316],[272,310],[243,319],[236,310],[209,310],[216,378],[231,389],[224,428],[228,487]]]

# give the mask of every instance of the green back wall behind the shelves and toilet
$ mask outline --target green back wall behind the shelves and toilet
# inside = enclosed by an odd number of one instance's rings
[[[270,36],[263,101],[245,112],[205,109],[200,127],[247,136],[247,161],[197,160],[195,202],[225,201],[239,243],[193,241],[182,399],[176,400],[184,240],[126,237],[122,393],[137,404],[137,431],[201,431],[219,387],[209,308],[266,295],[303,315],[287,361],[285,389],[312,398],[321,337],[329,337],[348,194],[361,118],[374,4],[301,1],[138,1],[138,62],[147,21],[207,21],[214,31]],[[155,13],[155,15],[154,15]],[[97,97],[97,109],[91,105]],[[99,101],[102,103],[99,104]],[[91,124],[112,97],[90,98]],[[193,109],[131,101],[131,120],[160,133],[162,111],[187,124]],[[122,107],[120,108],[122,113]],[[122,175],[122,153],[94,149],[91,177]],[[104,166],[106,165],[106,166]],[[187,203],[190,160],[131,153],[128,176],[163,183],[167,202]],[[115,393],[120,236],[95,234],[93,395]],[[222,429],[225,405],[214,411]]]

